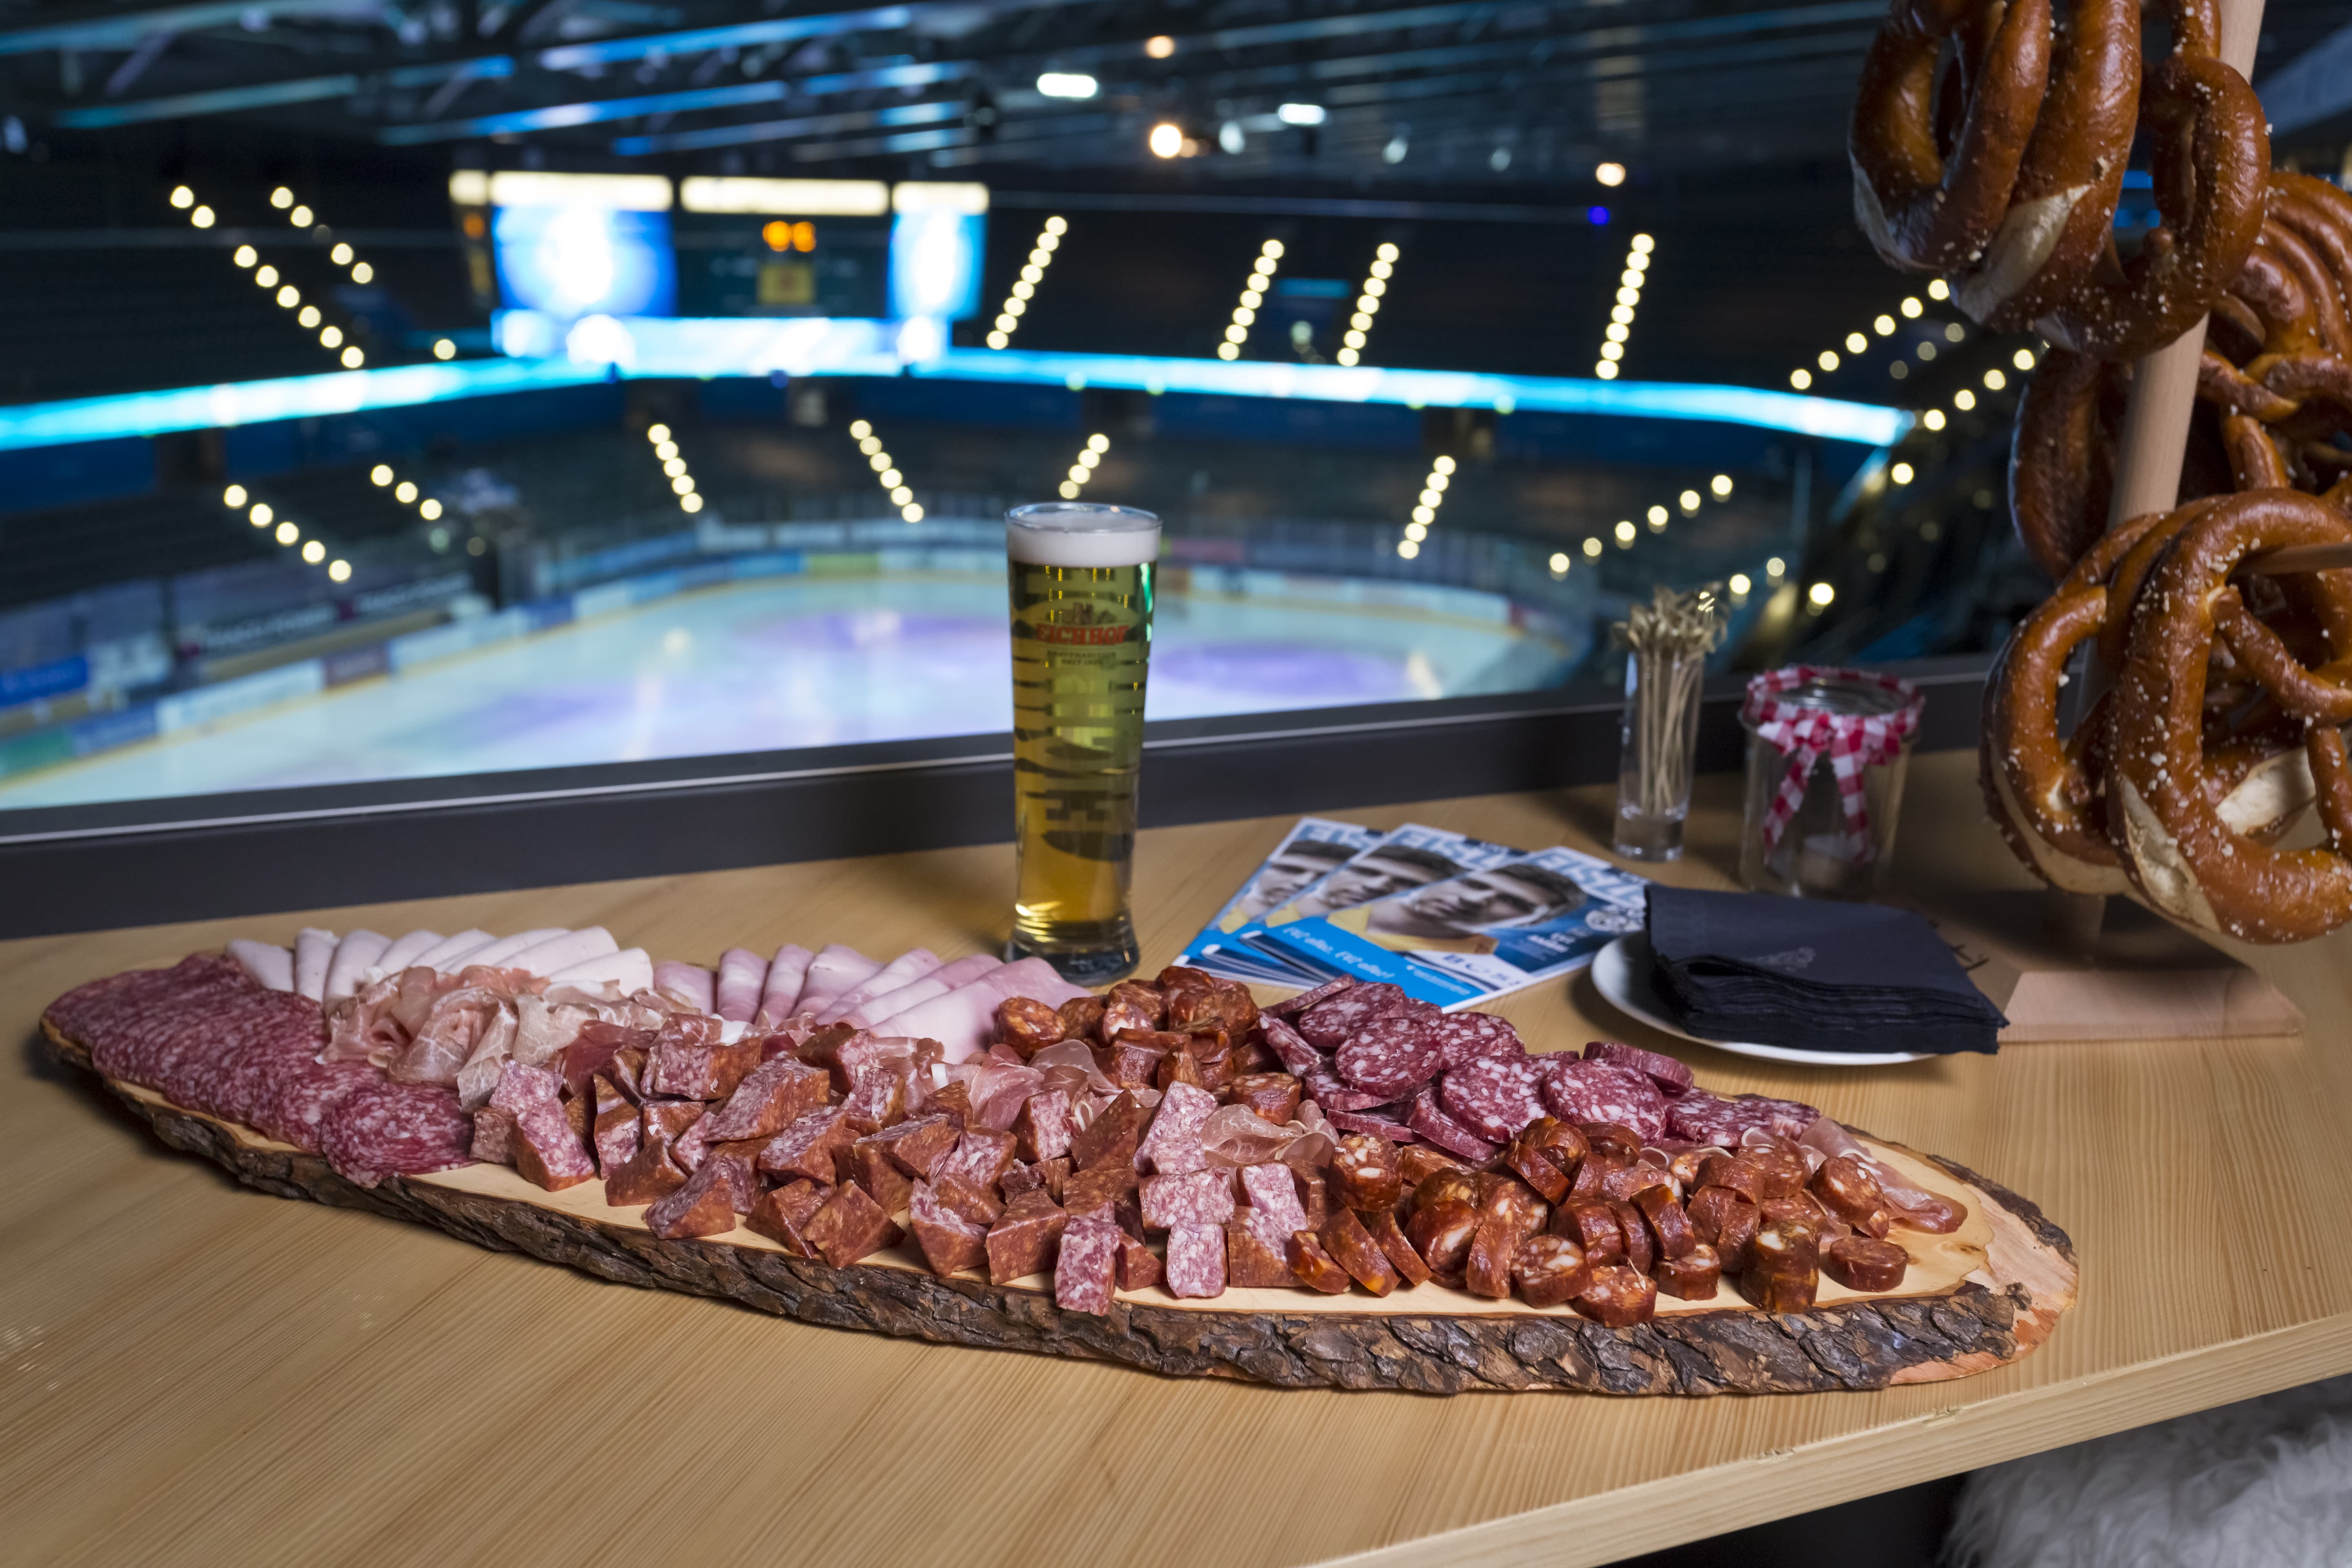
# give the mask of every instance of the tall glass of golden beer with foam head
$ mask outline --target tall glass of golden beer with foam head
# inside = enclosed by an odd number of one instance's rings
[[[1160,520],[1054,501],[1004,515],[1014,597],[1014,957],[1080,985],[1136,966],[1143,677]]]

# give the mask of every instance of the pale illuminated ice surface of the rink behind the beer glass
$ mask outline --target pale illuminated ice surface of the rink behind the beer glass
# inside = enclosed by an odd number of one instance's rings
[[[1148,715],[1503,691],[1510,625],[1164,595]],[[0,809],[1000,731],[1002,576],[746,583],[661,599],[0,785]]]

